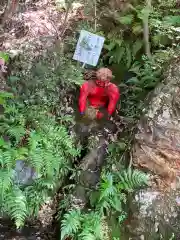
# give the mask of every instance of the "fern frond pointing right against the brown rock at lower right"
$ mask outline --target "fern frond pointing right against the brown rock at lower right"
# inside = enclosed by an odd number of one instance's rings
[[[147,185],[149,180],[149,176],[147,174],[138,170],[132,170],[131,168],[119,173],[118,176],[120,180],[118,188],[120,190],[133,190],[137,187]]]

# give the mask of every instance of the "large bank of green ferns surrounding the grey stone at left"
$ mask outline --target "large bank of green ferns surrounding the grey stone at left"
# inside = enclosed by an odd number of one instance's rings
[[[9,96],[1,93],[0,207],[20,228],[27,217],[38,214],[41,205],[60,186],[71,167],[70,158],[76,158],[79,149],[54,117],[42,110],[31,118],[33,109],[18,102],[18,98],[16,102],[8,100]],[[27,171],[36,173],[35,179],[15,181],[18,161],[24,161],[25,175]]]

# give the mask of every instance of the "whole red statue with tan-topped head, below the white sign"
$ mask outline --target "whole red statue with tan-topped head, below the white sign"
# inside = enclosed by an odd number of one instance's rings
[[[97,109],[96,117],[101,119],[104,114],[100,109],[106,109],[110,117],[116,109],[120,98],[118,87],[111,83],[112,71],[108,68],[100,68],[96,72],[96,79],[83,83],[79,96],[80,114],[85,114],[86,108],[91,106]]]

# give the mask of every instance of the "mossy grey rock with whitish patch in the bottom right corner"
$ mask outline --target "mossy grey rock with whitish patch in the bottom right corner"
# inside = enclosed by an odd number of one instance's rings
[[[130,204],[133,212],[125,226],[123,240],[180,239],[180,192],[161,193],[152,189],[139,191]],[[171,238],[171,237],[175,238]]]

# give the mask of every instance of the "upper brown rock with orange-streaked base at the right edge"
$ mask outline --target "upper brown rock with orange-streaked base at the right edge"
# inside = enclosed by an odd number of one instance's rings
[[[180,166],[180,58],[172,61],[152,95],[135,136],[133,162],[160,177],[158,186],[178,185]],[[163,166],[163,167],[162,167]],[[176,183],[176,184],[175,184]],[[178,187],[178,186],[176,186]]]

